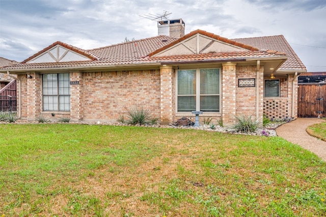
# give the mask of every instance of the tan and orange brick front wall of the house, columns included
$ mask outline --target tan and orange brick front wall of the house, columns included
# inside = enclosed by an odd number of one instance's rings
[[[291,115],[292,80],[293,76],[281,79],[281,97],[270,99],[271,104],[263,97],[263,66],[256,72],[256,65],[236,66],[223,64],[221,70],[221,113],[204,114],[203,117],[213,117],[214,121],[222,118],[225,125],[234,123],[234,115],[253,115],[256,117],[256,93],[259,87],[258,118],[263,113],[270,117]],[[159,118],[162,124],[172,123],[180,118],[176,113],[176,69],[161,66],[160,69],[113,71],[113,72],[71,72],[70,81],[79,82],[70,85],[70,112],[42,112],[42,75],[29,73],[18,75],[21,80],[21,117],[36,119],[40,114],[46,118],[58,119],[70,117],[74,121],[105,121],[116,122],[120,115],[127,116],[127,111],[133,108],[145,108],[153,117]],[[238,79],[255,78],[256,87],[238,87]],[[297,78],[294,80],[297,85]],[[297,90],[295,89],[295,103]],[[276,109],[273,100],[281,100]],[[18,100],[19,102],[19,100]],[[288,105],[289,103],[289,105]],[[55,117],[51,116],[55,113]],[[294,113],[297,107],[294,106]],[[183,115],[183,114],[182,114]],[[189,115],[186,117],[193,117]],[[194,117],[193,117],[194,120]]]

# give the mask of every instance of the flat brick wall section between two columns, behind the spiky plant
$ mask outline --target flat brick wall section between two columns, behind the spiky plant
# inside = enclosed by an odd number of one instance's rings
[[[115,122],[141,107],[161,117],[159,70],[84,73],[82,88],[84,120]]]

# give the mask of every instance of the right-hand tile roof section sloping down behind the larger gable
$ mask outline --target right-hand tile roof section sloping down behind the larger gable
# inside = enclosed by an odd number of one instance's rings
[[[285,52],[289,58],[282,64],[279,70],[297,69],[306,70],[305,65],[297,57],[294,50],[291,48],[289,43],[286,41],[283,35],[278,36],[265,36],[265,37],[254,37],[254,38],[238,38],[232,39],[237,42],[249,44],[260,50],[277,50]]]

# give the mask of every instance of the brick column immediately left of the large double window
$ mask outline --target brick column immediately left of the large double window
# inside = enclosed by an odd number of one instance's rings
[[[160,121],[161,124],[172,123],[173,121],[173,73],[171,66],[160,68]]]

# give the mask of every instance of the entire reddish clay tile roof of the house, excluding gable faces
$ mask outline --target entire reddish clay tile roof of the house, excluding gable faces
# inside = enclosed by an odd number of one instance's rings
[[[192,37],[195,34],[202,34],[226,43],[234,44],[239,47],[248,49],[248,51],[238,52],[220,52],[220,53],[203,53],[199,55],[178,55],[168,57],[153,57],[158,53],[178,42]],[[78,52],[81,55],[89,57],[89,61],[70,61],[70,62],[57,62],[57,63],[26,63],[29,60],[37,57],[56,45],[64,46],[72,51]],[[249,44],[249,45],[248,45]],[[292,48],[288,45],[283,36],[269,36],[257,37],[248,39],[227,39],[208,33],[202,30],[193,31],[184,37],[174,38],[170,36],[155,36],[141,40],[135,40],[95,49],[83,50],[72,45],[65,44],[57,41],[50,46],[39,51],[32,57],[9,67],[6,70],[24,70],[24,69],[69,69],[69,68],[83,68],[83,67],[106,67],[106,66],[122,66],[132,64],[159,64],[161,62],[187,62],[187,61],[224,61],[227,59],[240,60],[251,58],[268,58],[268,57],[281,57],[287,55],[290,61],[286,61],[282,68],[302,69],[304,65],[297,58]],[[1,69],[0,69],[1,70]]]

